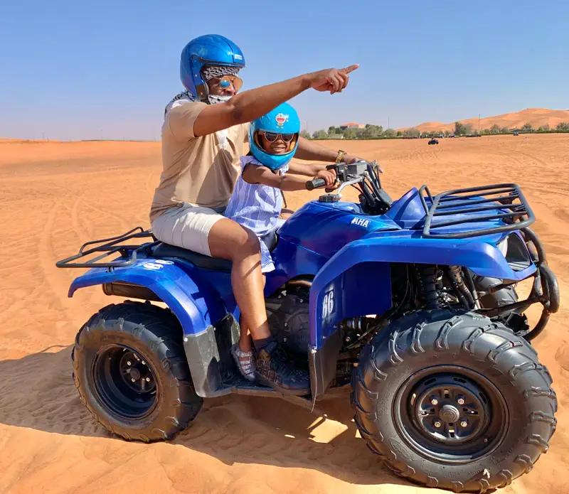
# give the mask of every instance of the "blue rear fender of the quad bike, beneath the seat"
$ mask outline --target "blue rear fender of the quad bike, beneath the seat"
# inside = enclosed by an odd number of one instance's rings
[[[128,267],[111,271],[94,268],[78,276],[70,286],[68,296],[85,286],[124,281],[146,286],[169,306],[179,319],[184,335],[206,331],[228,312],[220,294],[198,273],[190,276],[180,265],[159,259],[139,259]]]

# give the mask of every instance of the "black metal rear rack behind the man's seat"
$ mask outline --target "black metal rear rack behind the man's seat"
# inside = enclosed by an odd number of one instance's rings
[[[127,242],[127,240],[138,238],[151,238],[152,241],[133,245],[122,243]],[[115,267],[132,266],[132,264],[137,262],[138,252],[149,252],[149,249],[151,249],[151,247],[154,247],[154,245],[157,245],[159,243],[159,240],[154,237],[151,230],[144,230],[142,227],[136,227],[126,233],[123,233],[122,235],[118,235],[117,237],[110,237],[86,242],[81,246],[77,254],[56,262],[55,266],[80,268],[106,267],[109,270]],[[94,245],[95,247],[91,247],[90,249],[85,250],[85,248],[89,245]],[[102,252],[102,254],[85,262],[73,262],[77,259],[83,259],[87,256],[90,256],[91,254],[95,254],[95,252]],[[101,261],[101,259],[105,259],[105,257],[117,253],[119,253],[121,256],[119,259],[106,262]]]

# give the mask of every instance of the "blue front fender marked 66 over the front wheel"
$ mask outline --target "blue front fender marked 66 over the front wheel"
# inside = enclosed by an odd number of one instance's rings
[[[314,277],[310,289],[310,345],[321,348],[345,318],[381,314],[391,306],[391,263],[468,267],[491,278],[520,281],[536,266],[514,272],[499,249],[480,239],[424,239],[371,233],[344,246]],[[363,281],[365,280],[365,282]]]

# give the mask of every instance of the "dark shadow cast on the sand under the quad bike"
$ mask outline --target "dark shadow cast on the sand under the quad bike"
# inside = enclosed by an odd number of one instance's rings
[[[0,361],[0,423],[123,441],[107,434],[81,404],[71,378],[70,353],[71,347],[50,347]],[[350,483],[409,485],[393,476],[356,436],[349,390],[336,390],[319,402],[319,410],[313,414],[278,398],[206,399],[193,424],[170,442],[228,465],[312,468]]]

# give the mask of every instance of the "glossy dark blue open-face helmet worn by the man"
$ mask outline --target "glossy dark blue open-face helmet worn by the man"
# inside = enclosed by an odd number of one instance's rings
[[[245,67],[245,57],[238,45],[219,34],[206,34],[190,41],[182,50],[180,79],[186,90],[200,100],[208,97],[208,85],[201,70],[206,65]]]

